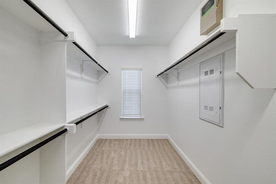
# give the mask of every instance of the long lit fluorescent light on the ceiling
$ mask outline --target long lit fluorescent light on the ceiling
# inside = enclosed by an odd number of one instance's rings
[[[137,0],[128,0],[129,37],[135,38],[137,16]]]

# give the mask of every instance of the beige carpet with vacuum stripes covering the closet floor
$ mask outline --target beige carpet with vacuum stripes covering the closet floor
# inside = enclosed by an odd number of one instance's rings
[[[99,139],[67,184],[200,183],[166,139]]]

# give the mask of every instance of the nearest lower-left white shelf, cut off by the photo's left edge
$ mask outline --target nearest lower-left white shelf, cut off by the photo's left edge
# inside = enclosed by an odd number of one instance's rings
[[[0,136],[0,157],[51,133],[65,124],[39,123]]]

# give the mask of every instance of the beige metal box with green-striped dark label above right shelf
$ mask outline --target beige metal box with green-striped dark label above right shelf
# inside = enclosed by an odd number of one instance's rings
[[[222,19],[222,1],[208,0],[200,9],[200,35],[206,35],[220,25]]]

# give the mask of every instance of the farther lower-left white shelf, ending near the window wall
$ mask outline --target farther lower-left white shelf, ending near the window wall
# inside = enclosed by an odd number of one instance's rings
[[[76,110],[76,111],[73,111],[71,113],[67,113],[66,115],[66,123],[70,123],[71,121],[74,121],[80,117],[83,117],[84,115],[86,114],[89,114],[93,111],[96,111],[104,106],[106,106],[107,104],[104,104],[104,105],[93,105],[93,106],[90,106],[90,107],[86,107],[84,109],[79,109],[79,110]]]

